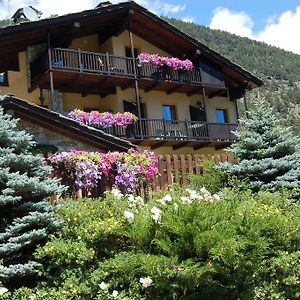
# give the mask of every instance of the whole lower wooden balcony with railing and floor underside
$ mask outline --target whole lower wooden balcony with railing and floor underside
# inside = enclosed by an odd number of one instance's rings
[[[236,129],[237,124],[141,119],[126,129],[115,126],[104,131],[152,149],[161,146],[221,149],[236,141],[233,133]]]

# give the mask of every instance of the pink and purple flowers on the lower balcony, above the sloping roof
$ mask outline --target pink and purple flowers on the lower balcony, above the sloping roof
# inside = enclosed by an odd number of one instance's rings
[[[137,121],[137,117],[130,112],[112,114],[110,112],[100,113],[99,111],[84,112],[80,109],[70,111],[68,117],[80,123],[102,128],[115,125],[127,128],[130,124]]]

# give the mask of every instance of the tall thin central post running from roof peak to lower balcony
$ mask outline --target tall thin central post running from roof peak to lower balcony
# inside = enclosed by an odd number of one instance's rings
[[[143,134],[142,134],[142,114],[141,114],[141,98],[140,98],[139,84],[138,84],[138,79],[137,79],[136,57],[135,57],[135,54],[134,54],[132,24],[131,24],[131,19],[132,19],[133,14],[134,14],[133,9],[130,9],[129,10],[129,16],[128,16],[128,32],[129,32],[129,41],[130,41],[130,48],[131,48],[131,56],[132,56],[132,61],[133,61],[135,99],[136,99],[137,112],[138,112],[138,118],[139,118],[140,136],[141,136],[141,139],[143,139]]]

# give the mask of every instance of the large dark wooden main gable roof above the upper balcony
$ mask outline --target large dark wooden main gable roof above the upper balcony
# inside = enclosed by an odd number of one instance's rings
[[[4,27],[0,29],[0,57],[5,57],[7,65],[17,69],[19,51],[24,51],[30,45],[45,42],[48,33],[59,40],[63,34],[70,31],[70,27],[72,28],[75,22],[80,22],[76,37],[96,32],[117,34],[120,30],[124,30],[130,11],[134,12],[132,15],[133,32],[166,52],[182,55],[195,53],[199,49],[201,55],[221,65],[229,76],[238,78],[243,83],[249,82],[250,87],[263,84],[261,79],[241,66],[183,33],[134,1],[97,6],[78,13]]]

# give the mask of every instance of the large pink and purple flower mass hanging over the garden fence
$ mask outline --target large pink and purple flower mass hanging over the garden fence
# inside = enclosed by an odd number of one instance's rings
[[[114,186],[135,193],[141,183],[150,183],[158,175],[155,154],[135,149],[128,153],[71,150],[55,154],[50,161],[64,183],[77,189],[92,189],[110,176]]]

